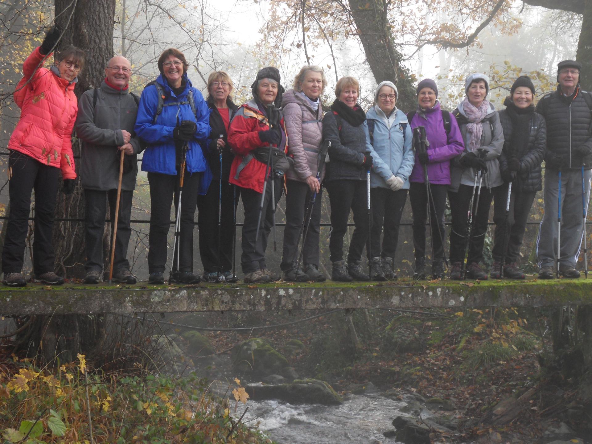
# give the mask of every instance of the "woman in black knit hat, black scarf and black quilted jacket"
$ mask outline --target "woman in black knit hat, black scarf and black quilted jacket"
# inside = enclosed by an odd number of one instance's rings
[[[546,146],[545,118],[535,112],[534,98],[532,81],[520,76],[504,101],[506,109],[499,112],[504,130],[504,147],[499,157],[504,185],[494,195],[492,279],[524,279],[516,263],[530,208],[536,192],[542,189],[540,163]],[[506,211],[510,184],[510,208]]]

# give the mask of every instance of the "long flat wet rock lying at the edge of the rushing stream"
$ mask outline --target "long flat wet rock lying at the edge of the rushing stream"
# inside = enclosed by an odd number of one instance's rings
[[[297,379],[289,384],[249,384],[245,390],[255,401],[276,399],[290,404],[324,406],[337,406],[343,402],[327,382],[318,379]]]

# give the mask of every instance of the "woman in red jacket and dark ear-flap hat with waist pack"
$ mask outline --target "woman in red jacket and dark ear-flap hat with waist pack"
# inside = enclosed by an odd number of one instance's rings
[[[251,85],[253,99],[240,106],[228,133],[230,147],[237,155],[230,168],[229,182],[240,187],[244,206],[241,256],[244,282],[279,279],[279,274],[267,268],[265,249],[275,206],[282,194],[283,176],[289,166],[285,155],[288,143],[284,119],[278,110],[284,93],[280,80],[279,71],[273,66],[257,73]],[[268,165],[270,150],[274,168]],[[266,181],[261,210],[263,183]],[[272,189],[275,202],[271,202]]]

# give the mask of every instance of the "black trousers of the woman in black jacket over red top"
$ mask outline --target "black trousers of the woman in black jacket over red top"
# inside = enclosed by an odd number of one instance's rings
[[[234,234],[234,211],[239,203],[239,188],[234,196],[234,185],[222,182],[222,204],[220,182],[213,181],[207,194],[197,197],[200,256],[204,273],[226,272],[232,269],[232,244]],[[222,208],[220,235],[218,237],[218,208]],[[220,244],[218,246],[218,240]],[[220,255],[218,256],[218,252]]]

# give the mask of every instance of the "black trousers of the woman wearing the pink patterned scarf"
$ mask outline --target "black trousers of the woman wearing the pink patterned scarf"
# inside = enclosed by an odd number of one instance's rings
[[[487,221],[489,220],[489,210],[493,193],[495,189],[481,187],[481,196],[477,207],[477,192],[475,189],[475,201],[473,202],[473,231],[472,240],[469,244],[468,263],[479,263],[483,260],[483,245],[485,243],[485,233],[487,233]],[[465,255],[465,234],[467,227],[467,214],[473,187],[469,185],[459,185],[458,192],[448,190],[448,201],[452,217],[452,230],[450,232],[450,260],[454,262],[463,262]],[[475,214],[475,211],[477,212]]]

